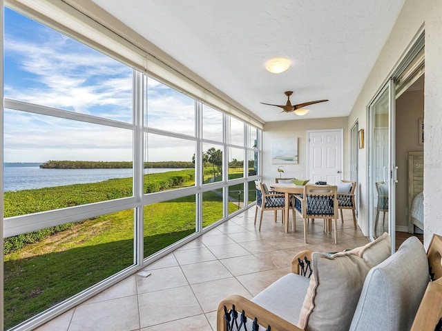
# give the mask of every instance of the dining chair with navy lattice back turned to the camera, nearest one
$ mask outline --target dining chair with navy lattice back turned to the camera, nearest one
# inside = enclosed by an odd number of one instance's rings
[[[307,243],[309,219],[323,219],[324,230],[329,230],[334,219],[334,243],[337,240],[338,199],[336,185],[306,184],[304,194],[294,195],[296,213],[304,220],[304,242]],[[295,219],[294,219],[295,222]]]

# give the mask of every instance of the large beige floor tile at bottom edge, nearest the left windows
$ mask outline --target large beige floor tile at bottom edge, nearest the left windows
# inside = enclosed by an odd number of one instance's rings
[[[137,296],[134,295],[79,305],[75,308],[69,331],[129,331],[139,328]]]

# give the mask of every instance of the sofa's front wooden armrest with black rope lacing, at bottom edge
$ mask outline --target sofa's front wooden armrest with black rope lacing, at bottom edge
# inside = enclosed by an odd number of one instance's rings
[[[270,325],[271,331],[302,331],[302,329],[298,328],[296,325],[289,323],[278,315],[273,314],[273,312],[269,312],[269,310],[262,308],[260,305],[257,305],[240,295],[230,295],[223,299],[218,305],[216,322],[216,330],[218,331],[227,330],[226,321],[224,320],[224,305],[228,311],[232,309],[233,305],[235,305],[235,310],[238,312],[238,315],[244,310],[247,319],[253,321],[253,319],[256,318],[259,325],[264,326],[264,328],[267,328],[267,326]],[[239,323],[240,321],[238,321],[238,324]]]

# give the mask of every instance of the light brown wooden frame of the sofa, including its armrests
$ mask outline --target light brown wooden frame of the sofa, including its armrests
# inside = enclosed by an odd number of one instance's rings
[[[291,271],[295,274],[302,274],[305,270],[301,267],[305,258],[311,261],[311,250],[302,250],[291,261]],[[430,246],[427,250],[427,259],[430,265],[430,275],[433,281],[427,285],[427,290],[423,296],[419,310],[416,312],[411,331],[435,330],[436,324],[442,317],[442,237],[434,234]],[[259,325],[271,325],[272,331],[302,331],[296,325],[293,325],[282,319],[276,314],[269,312],[260,305],[253,303],[240,295],[231,295],[220,302],[217,313],[217,330],[227,330],[224,320],[224,306],[227,310],[242,312],[244,310],[247,319],[257,319]],[[261,330],[261,329],[260,329]]]

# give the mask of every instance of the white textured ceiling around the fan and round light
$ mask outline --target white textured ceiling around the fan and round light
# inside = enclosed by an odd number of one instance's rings
[[[404,2],[93,1],[264,121],[347,116]],[[273,57],[291,68],[267,72]],[[329,101],[305,117],[260,104],[285,104],[286,90],[292,103]]]

